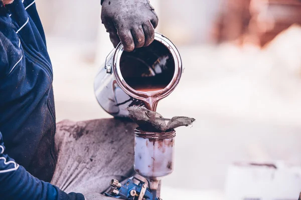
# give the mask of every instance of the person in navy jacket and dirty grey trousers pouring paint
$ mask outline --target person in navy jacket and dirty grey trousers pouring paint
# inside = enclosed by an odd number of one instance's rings
[[[114,47],[152,43],[158,17],[148,0],[101,5]],[[35,0],[0,0],[0,199],[111,199],[100,194],[107,180],[126,179],[133,163],[132,139],[116,134],[134,124],[99,119],[56,126],[52,80]]]

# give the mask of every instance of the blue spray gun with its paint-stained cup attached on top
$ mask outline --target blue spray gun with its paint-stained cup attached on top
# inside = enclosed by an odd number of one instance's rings
[[[158,184],[174,170],[176,131],[149,132],[136,128],[134,135],[134,170],[147,179],[148,187],[136,177],[129,178],[124,185],[112,179],[113,188],[105,194],[127,200],[162,200],[157,193]]]

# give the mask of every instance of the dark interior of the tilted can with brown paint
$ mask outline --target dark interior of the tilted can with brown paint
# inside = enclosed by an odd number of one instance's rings
[[[157,40],[147,47],[123,51],[119,64],[125,82],[136,91],[164,89],[175,73],[173,55]]]

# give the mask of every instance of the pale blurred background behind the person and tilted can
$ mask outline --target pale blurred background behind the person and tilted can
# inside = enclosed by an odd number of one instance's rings
[[[96,72],[113,48],[99,1],[36,2],[54,68],[57,121],[111,117],[93,90]],[[157,32],[175,43],[185,66],[180,84],[158,111],[197,119],[193,127],[177,130],[175,171],[164,178],[162,197],[226,199],[254,187],[249,198],[296,199],[301,191],[293,189],[301,188],[301,1],[150,2],[159,15]],[[233,165],[279,161],[282,167],[272,171]],[[246,171],[235,173],[237,166]],[[271,175],[259,191],[254,177],[261,167]],[[258,197],[276,191],[284,197]]]

